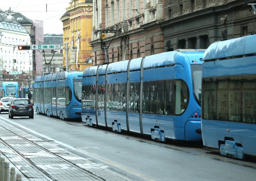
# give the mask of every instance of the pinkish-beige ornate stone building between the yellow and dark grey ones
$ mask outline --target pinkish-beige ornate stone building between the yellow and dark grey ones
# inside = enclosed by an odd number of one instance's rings
[[[160,0],[93,0],[92,64],[106,62],[103,46],[109,46],[109,62],[163,52],[163,8]],[[102,32],[106,38],[101,43]]]

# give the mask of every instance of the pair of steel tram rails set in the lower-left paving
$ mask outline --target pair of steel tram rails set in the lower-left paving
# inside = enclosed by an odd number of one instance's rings
[[[0,125],[0,127],[3,127],[2,125]],[[63,157],[61,156],[58,156],[57,154],[54,154],[50,151],[48,151],[47,149],[43,148],[42,146],[36,144],[35,142],[32,142],[28,139],[26,139],[25,137],[22,137],[18,134],[16,134],[15,132],[13,132],[12,130],[6,128],[6,127],[3,127],[4,129],[8,130],[9,132],[11,132],[12,134],[14,134],[15,136],[19,137],[20,139],[22,140],[25,140],[27,141],[29,144],[32,144],[34,146],[36,146],[37,148],[40,148],[42,150],[44,150],[45,152],[47,152],[48,154],[51,154],[52,156],[54,157],[57,157],[58,159],[62,160],[63,162],[71,165],[72,167],[84,172],[85,174],[95,178],[96,180],[100,180],[100,181],[105,181],[104,178],[102,177],[99,177],[95,174],[93,174],[92,172],[89,172],[88,170],[84,170],[83,168],[75,165],[74,163],[68,161],[67,159],[64,159]],[[53,178],[50,174],[48,174],[46,171],[44,171],[42,168],[40,168],[36,163],[33,163],[30,159],[28,159],[26,156],[24,156],[23,154],[21,154],[19,151],[17,151],[11,144],[7,143],[6,141],[4,141],[2,138],[0,138],[0,141],[7,147],[9,147],[15,154],[17,154],[18,156],[20,156],[26,163],[28,163],[30,166],[32,166],[34,169],[36,169],[38,172],[40,172],[41,174],[44,175],[44,177],[47,179],[47,180],[58,180],[58,179],[55,179]]]

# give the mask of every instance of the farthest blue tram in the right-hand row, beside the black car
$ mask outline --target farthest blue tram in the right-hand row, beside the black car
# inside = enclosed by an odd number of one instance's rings
[[[82,71],[36,76],[34,107],[38,114],[81,119]]]

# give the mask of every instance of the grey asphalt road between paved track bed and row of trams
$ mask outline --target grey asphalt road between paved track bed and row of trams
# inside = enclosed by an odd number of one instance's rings
[[[34,119],[9,119],[8,113],[1,113],[0,119],[134,179],[249,181],[256,178],[256,162],[209,154],[198,144],[193,147],[186,143],[159,143],[38,114]]]

